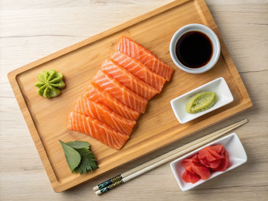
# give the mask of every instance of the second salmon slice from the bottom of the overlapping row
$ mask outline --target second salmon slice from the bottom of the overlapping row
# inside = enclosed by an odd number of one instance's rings
[[[128,136],[130,136],[133,126],[136,124],[136,121],[126,119],[86,96],[78,97],[74,111],[98,119]]]

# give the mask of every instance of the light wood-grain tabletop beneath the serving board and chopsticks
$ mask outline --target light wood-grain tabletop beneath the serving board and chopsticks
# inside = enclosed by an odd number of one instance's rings
[[[268,200],[267,0],[207,0],[248,90],[251,109],[59,194],[50,185],[7,73],[171,0],[0,2],[0,200]],[[247,163],[194,190],[180,190],[169,163],[102,196],[92,190],[105,179],[245,118],[249,122],[235,132]]]

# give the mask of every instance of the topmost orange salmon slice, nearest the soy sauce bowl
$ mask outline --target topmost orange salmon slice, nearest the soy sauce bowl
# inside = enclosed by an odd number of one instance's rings
[[[152,71],[165,78],[167,81],[170,80],[174,69],[161,61],[155,56],[150,50],[142,47],[140,44],[134,42],[126,36],[121,36],[115,49],[122,53],[140,61]]]

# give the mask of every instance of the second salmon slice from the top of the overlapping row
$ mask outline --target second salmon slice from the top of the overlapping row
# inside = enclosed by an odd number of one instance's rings
[[[158,93],[162,90],[166,79],[162,76],[151,71],[146,65],[140,63],[136,59],[118,51],[115,49],[111,54],[111,59],[116,61],[119,65],[124,67],[126,70],[130,71],[134,76],[140,80],[146,82],[153,88],[158,90]]]

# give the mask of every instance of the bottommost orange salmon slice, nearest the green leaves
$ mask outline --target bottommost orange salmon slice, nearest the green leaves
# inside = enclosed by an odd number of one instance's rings
[[[68,129],[87,134],[116,150],[121,149],[129,138],[106,123],[77,112],[70,113]]]

